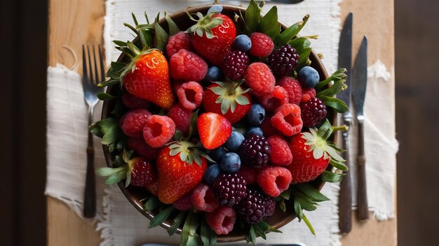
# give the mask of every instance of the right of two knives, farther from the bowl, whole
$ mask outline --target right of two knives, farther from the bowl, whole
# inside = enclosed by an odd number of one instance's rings
[[[369,208],[367,207],[366,189],[366,158],[364,152],[364,114],[363,106],[367,86],[367,38],[363,37],[360,50],[358,50],[355,64],[352,71],[352,101],[356,109],[358,122],[358,187],[357,187],[357,213],[360,222],[369,219]]]

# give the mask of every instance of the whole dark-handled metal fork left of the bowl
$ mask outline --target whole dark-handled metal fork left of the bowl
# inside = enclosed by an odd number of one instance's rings
[[[87,52],[86,52],[87,50]],[[97,94],[103,92],[103,87],[97,87],[97,84],[104,80],[104,61],[100,51],[100,45],[97,45],[97,52],[99,54],[96,59],[95,45],[92,46],[93,64],[91,62],[90,48],[84,48],[82,45],[82,66],[83,76],[82,84],[84,90],[84,99],[88,105],[88,125],[93,123],[93,111],[98,101]],[[86,56],[87,54],[87,56]],[[87,59],[86,59],[87,58]],[[87,66],[88,60],[88,66]],[[100,73],[98,73],[97,64],[100,66]],[[93,68],[92,68],[93,67]],[[94,76],[93,76],[94,71]],[[87,173],[86,173],[86,190],[84,193],[84,208],[83,216],[86,218],[93,218],[96,215],[96,187],[95,187],[95,150],[93,147],[93,134],[88,131],[88,145],[87,145]]]

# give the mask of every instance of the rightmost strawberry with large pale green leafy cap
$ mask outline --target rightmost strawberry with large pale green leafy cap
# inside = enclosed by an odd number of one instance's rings
[[[308,182],[323,173],[330,161],[344,162],[336,149],[327,143],[332,126],[326,121],[320,129],[298,133],[290,138],[292,162],[285,166],[291,172],[292,184]]]

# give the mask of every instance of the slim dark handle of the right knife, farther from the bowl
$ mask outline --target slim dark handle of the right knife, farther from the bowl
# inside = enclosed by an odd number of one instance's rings
[[[363,117],[358,117],[358,187],[357,187],[357,212],[360,222],[369,219],[366,186],[366,157],[364,152]]]

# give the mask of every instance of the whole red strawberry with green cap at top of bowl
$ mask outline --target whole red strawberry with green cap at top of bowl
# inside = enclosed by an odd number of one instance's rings
[[[192,34],[192,45],[198,54],[215,66],[222,65],[236,37],[234,22],[219,13],[209,13],[203,16],[196,14],[199,20],[187,29]]]

